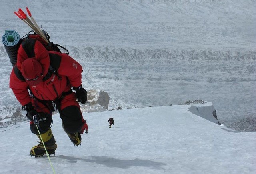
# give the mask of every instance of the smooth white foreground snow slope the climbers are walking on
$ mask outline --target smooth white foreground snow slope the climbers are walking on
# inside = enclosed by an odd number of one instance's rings
[[[74,147],[53,116],[58,148],[51,162],[56,174],[254,174],[255,132],[236,132],[188,111],[212,104],[188,104],[84,113],[89,133]],[[114,128],[108,128],[113,117]],[[32,158],[37,137],[28,122],[0,128],[0,173],[49,174],[48,158]],[[14,145],[15,144],[15,145]]]

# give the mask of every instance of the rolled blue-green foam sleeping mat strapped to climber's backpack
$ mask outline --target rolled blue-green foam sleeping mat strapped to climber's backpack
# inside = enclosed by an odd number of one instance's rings
[[[20,35],[14,30],[5,30],[5,33],[2,36],[2,42],[10,58],[12,66],[14,67],[14,65],[17,63],[18,49],[21,44]]]

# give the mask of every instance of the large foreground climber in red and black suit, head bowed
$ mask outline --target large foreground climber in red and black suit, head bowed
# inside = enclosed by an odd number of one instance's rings
[[[26,110],[30,129],[36,135],[39,133],[33,117],[37,116],[39,120],[42,140],[31,149],[31,156],[46,154],[42,141],[48,154],[55,153],[57,145],[50,129],[54,106],[59,110],[62,127],[74,145],[81,144],[80,134],[88,133],[78,103],[85,104],[87,100],[81,73],[82,66],[76,60],[67,54],[47,51],[38,40],[26,39],[20,45],[17,64],[10,75],[10,88],[22,110]]]

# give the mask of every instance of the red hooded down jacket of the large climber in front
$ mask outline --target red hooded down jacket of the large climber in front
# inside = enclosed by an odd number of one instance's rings
[[[26,41],[26,40],[25,40]],[[31,92],[40,100],[54,100],[71,89],[71,86],[78,87],[82,83],[82,66],[67,54],[60,52],[48,52],[46,48],[34,39],[22,42],[18,50],[17,68],[21,70],[22,62],[28,58],[36,59],[42,65],[42,76],[46,76],[50,66],[49,53],[60,56],[60,64],[56,74],[52,74],[48,80],[40,82],[36,86],[30,86],[26,81],[19,80],[14,73],[10,75],[10,88],[22,106],[31,102],[28,87]]]

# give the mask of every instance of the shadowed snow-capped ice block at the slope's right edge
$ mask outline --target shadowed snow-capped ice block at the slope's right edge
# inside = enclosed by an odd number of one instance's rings
[[[190,104],[188,111],[192,114],[200,116],[210,122],[214,122],[218,125],[221,123],[218,121],[216,110],[211,102],[205,102],[202,100],[195,100],[193,102],[186,102],[185,104]]]

